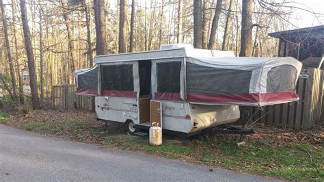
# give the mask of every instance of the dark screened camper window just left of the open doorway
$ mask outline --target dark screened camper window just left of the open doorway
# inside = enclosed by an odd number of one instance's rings
[[[100,69],[102,90],[134,90],[133,64],[104,65]]]

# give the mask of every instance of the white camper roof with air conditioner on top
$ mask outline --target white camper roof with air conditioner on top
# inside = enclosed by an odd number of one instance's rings
[[[162,44],[159,50],[137,53],[120,53],[113,55],[97,55],[94,63],[129,62],[138,60],[159,60],[176,57],[234,57],[232,51],[216,51],[194,49],[191,44]]]

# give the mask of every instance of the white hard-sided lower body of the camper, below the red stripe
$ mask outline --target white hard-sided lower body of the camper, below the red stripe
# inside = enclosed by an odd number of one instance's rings
[[[155,99],[129,99],[115,96],[96,96],[96,114],[101,120],[133,121],[137,127],[150,127],[150,101],[161,103],[160,109],[151,110],[159,115],[160,126],[168,131],[193,133],[239,119],[239,107],[234,105],[193,105],[187,102]],[[129,129],[132,131],[132,129]]]

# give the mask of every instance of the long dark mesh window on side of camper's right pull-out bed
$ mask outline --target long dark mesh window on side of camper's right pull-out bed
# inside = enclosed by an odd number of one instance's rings
[[[243,94],[249,93],[252,71],[211,68],[187,62],[188,93]]]

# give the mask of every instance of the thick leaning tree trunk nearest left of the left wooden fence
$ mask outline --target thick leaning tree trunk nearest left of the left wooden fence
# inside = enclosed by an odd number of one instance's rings
[[[35,60],[33,58],[33,49],[31,47],[30,40],[30,31],[27,19],[27,10],[26,10],[26,2],[25,0],[20,0],[21,3],[21,21],[23,22],[23,32],[25,38],[25,49],[27,53],[27,63],[29,70],[29,85],[31,89],[31,103],[33,105],[33,109],[40,108],[40,103],[38,100],[38,90],[37,90],[37,79],[35,73]]]

